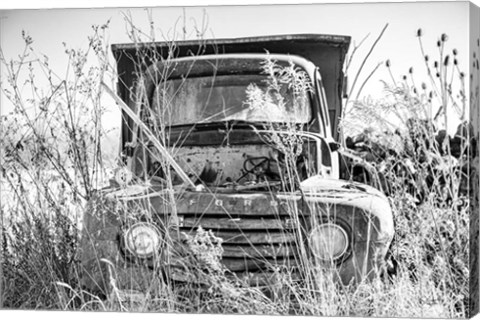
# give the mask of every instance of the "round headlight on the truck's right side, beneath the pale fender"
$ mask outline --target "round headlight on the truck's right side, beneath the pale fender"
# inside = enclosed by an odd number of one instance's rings
[[[347,232],[335,223],[315,227],[310,233],[309,241],[313,254],[324,261],[340,259],[348,249]]]

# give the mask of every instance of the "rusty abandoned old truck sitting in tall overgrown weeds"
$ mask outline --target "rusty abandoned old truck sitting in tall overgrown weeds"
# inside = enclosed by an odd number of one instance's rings
[[[298,34],[113,45],[123,168],[85,212],[83,285],[106,294],[201,282],[188,245],[199,230],[221,243],[222,270],[251,285],[279,272],[301,279],[317,270],[308,265],[343,284],[377,275],[392,210],[348,178],[337,142],[349,43]]]

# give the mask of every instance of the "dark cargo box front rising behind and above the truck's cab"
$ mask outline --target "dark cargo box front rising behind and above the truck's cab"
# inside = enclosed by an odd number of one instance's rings
[[[338,137],[338,120],[342,112],[343,64],[350,45],[349,36],[325,34],[287,34],[227,39],[200,39],[147,43],[113,44],[117,61],[118,93],[127,103],[138,72],[153,61],[185,56],[223,53],[291,54],[303,57],[318,66],[329,106],[332,133]],[[128,137],[123,137],[123,141]]]

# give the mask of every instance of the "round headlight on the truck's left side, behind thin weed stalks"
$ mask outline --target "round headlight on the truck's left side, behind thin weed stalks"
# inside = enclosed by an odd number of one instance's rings
[[[139,258],[151,257],[160,248],[160,232],[148,223],[137,223],[125,233],[125,248]]]

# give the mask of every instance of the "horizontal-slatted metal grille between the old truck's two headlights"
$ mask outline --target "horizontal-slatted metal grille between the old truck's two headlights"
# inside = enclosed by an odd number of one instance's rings
[[[294,267],[297,256],[294,201],[270,194],[186,194],[177,203],[182,240],[199,227],[222,238],[222,263],[235,273],[268,272],[278,266]]]

